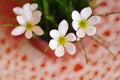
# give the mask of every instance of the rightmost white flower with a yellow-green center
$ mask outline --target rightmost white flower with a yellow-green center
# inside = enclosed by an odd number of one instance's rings
[[[93,36],[96,33],[96,27],[94,25],[100,22],[100,17],[91,16],[91,14],[92,9],[90,7],[82,9],[80,13],[76,10],[72,12],[72,26],[79,38],[85,37],[86,34]]]

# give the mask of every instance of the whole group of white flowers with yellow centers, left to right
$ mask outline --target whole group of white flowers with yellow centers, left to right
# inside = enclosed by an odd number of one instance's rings
[[[13,36],[21,35],[25,32],[25,37],[27,39],[32,38],[33,32],[37,35],[43,35],[43,30],[36,26],[40,22],[41,12],[37,10],[37,4],[26,3],[23,8],[15,7],[13,9],[14,13],[17,14],[17,21],[20,26],[17,26],[11,34]],[[58,30],[52,29],[50,31],[50,37],[52,39],[49,42],[49,47],[55,50],[55,55],[61,57],[67,51],[70,55],[75,54],[76,47],[73,44],[75,41],[79,41],[80,38],[88,36],[93,36],[96,33],[95,25],[100,21],[99,16],[91,16],[92,9],[86,7],[78,11],[74,10],[72,12],[72,27],[76,31],[74,33],[68,33],[68,22],[62,20],[58,25]]]

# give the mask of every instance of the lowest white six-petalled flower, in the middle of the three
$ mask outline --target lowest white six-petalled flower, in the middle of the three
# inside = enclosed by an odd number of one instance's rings
[[[68,23],[66,20],[61,21],[58,26],[58,30],[53,29],[50,31],[50,36],[53,38],[49,42],[49,46],[52,50],[55,50],[55,55],[61,57],[64,55],[65,50],[73,55],[76,52],[76,47],[73,41],[76,40],[76,36],[73,33],[66,35],[68,31]]]

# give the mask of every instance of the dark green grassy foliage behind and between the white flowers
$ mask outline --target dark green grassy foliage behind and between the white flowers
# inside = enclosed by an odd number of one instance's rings
[[[69,23],[69,31],[73,31],[71,13],[73,10],[80,11],[84,7],[89,6],[90,0],[32,0],[33,3],[39,5],[39,10],[42,12],[42,18],[39,23],[45,31],[42,38],[49,41],[49,31],[57,29],[58,24],[63,20]],[[47,37],[46,37],[47,36]]]

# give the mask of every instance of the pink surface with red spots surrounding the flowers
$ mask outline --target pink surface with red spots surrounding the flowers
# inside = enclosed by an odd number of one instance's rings
[[[97,3],[101,6],[95,13],[120,11],[120,0]],[[86,44],[89,58],[86,64],[81,52],[55,58],[52,52],[40,52],[42,45],[37,49],[31,45],[33,40],[28,41],[23,35],[11,36],[14,27],[4,25],[16,23],[12,8],[20,4],[19,0],[0,0],[0,80],[120,80],[120,14],[102,17],[97,25],[97,34],[108,41],[116,58],[92,41]]]

